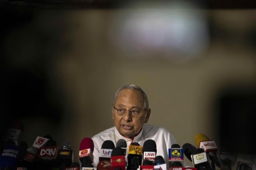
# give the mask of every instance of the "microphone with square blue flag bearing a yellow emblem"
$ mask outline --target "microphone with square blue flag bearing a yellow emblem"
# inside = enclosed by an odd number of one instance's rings
[[[183,148],[180,148],[179,144],[173,144],[170,149],[168,149],[169,156],[169,167],[172,169],[173,167],[183,167]]]

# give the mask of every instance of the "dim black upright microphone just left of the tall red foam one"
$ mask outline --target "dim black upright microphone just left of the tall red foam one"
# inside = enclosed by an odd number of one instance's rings
[[[60,150],[58,150],[56,159],[59,162],[60,169],[69,167],[73,162],[73,150],[69,141],[65,142]]]

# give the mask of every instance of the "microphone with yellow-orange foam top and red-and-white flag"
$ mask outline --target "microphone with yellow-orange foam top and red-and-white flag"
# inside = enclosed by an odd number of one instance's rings
[[[195,142],[198,148],[203,149],[209,156],[211,161],[211,168],[215,170],[215,165],[221,167],[220,161],[217,157],[217,145],[214,140],[210,140],[206,135],[203,133],[198,133],[195,136]]]

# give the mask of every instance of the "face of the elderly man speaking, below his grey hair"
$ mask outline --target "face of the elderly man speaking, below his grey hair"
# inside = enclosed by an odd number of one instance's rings
[[[133,138],[141,130],[144,123],[147,123],[150,117],[150,109],[143,110],[143,96],[134,89],[123,89],[119,92],[116,98],[114,107],[125,110],[141,110],[138,117],[133,117],[129,111],[125,115],[118,115],[117,111],[112,108],[113,119],[115,126],[120,134],[127,138]]]

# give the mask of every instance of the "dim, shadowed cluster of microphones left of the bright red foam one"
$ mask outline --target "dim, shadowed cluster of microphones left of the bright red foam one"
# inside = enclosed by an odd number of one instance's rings
[[[32,146],[21,140],[23,124],[7,129],[0,144],[0,170],[79,170],[69,141],[57,146],[50,135],[37,136]]]

